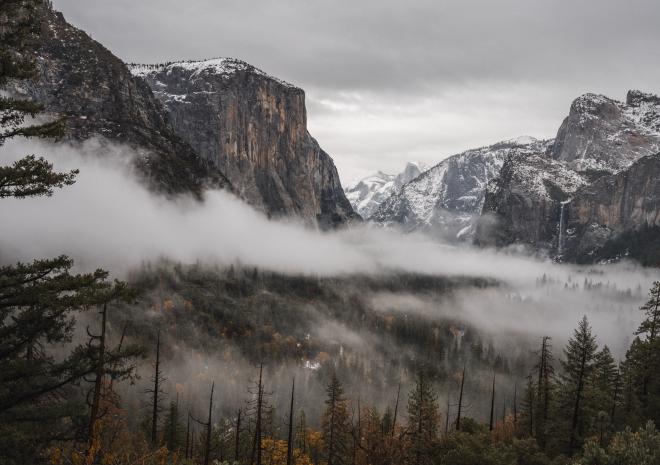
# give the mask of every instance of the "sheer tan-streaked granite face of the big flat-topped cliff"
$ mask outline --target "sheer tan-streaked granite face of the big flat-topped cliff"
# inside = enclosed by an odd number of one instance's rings
[[[230,58],[134,65],[176,133],[273,216],[321,227],[359,218],[330,156],[307,132],[305,93]]]

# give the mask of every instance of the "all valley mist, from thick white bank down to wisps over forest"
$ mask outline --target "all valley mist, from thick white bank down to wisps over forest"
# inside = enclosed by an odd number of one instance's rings
[[[440,405],[449,396],[453,406],[462,365],[474,361],[466,413],[483,419],[490,364],[499,367],[498,390],[511,408],[514,386],[522,387],[541,337],[553,338],[560,357],[583,315],[599,344],[623,357],[642,317],[638,308],[659,278],[657,270],[632,262],[565,265],[361,224],[322,232],[268,220],[219,191],[206,192],[203,202],[167,199],[138,179],[132,162],[139,155],[102,140],[77,146],[18,141],[0,150],[8,160],[37,153],[58,170],[80,169],[76,184],[52,198],[0,202],[0,215],[11,218],[0,224],[0,261],[67,254],[79,271],[103,267],[141,283],[140,303],[112,310],[111,334],[116,342],[128,323],[129,337],[147,345],[137,388],[121,386],[130,408],[145,415],[160,330],[167,401],[178,395],[194,415],[202,415],[212,381],[223,416],[245,408],[260,361],[271,404],[281,410],[278,421],[295,377],[299,406],[312,423],[331,369],[343,377],[352,401],[380,409],[394,408],[400,383],[403,409],[420,366],[434,367]],[[299,292],[297,282],[318,292]],[[208,307],[206,319],[197,316],[199,302]],[[213,305],[226,315],[250,312],[246,321],[271,328],[269,340],[277,342],[246,348],[240,334],[226,334],[213,320],[220,311]],[[81,315],[81,339],[95,322],[95,312]],[[413,337],[416,331],[423,337]],[[269,347],[289,352],[276,356]]]

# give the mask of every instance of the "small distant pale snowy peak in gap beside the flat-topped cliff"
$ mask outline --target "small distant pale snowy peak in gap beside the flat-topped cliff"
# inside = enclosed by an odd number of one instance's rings
[[[419,176],[425,169],[426,167],[421,163],[408,162],[399,174],[386,174],[378,171],[347,188],[346,198],[362,218],[368,219],[381,203],[393,193],[398,192],[404,184]]]

